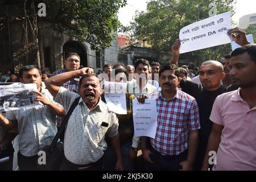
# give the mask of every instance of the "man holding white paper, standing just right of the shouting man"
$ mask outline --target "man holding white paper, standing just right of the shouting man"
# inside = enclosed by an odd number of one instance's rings
[[[123,84],[126,83],[126,69],[118,68],[115,69],[115,82],[111,82],[112,84],[119,83],[123,81]],[[110,85],[110,84],[109,84]],[[105,85],[106,86],[106,85]],[[111,87],[110,87],[111,88]],[[134,127],[133,127],[133,113],[132,113],[132,100],[134,97],[133,94],[125,93],[125,92],[119,93],[117,89],[117,85],[113,88],[115,92],[112,92],[110,90],[109,93],[103,93],[101,96],[102,101],[106,102],[106,104],[109,107],[109,110],[113,111],[118,118],[118,133],[120,138],[120,144],[121,144],[121,154],[122,154],[122,163],[123,163],[123,169],[126,171],[132,171],[133,170],[133,161],[129,159],[129,151],[131,150],[131,144],[133,143],[133,134],[134,134]],[[109,90],[109,89],[106,89]],[[122,97],[122,95],[124,95]],[[111,96],[116,96],[118,98],[118,102],[115,101],[112,98],[108,98]],[[111,103],[114,102],[115,103]],[[121,103],[124,103],[126,107],[122,107]],[[117,106],[116,106],[117,105]],[[110,108],[112,107],[112,108]],[[117,108],[114,108],[117,107]],[[126,113],[123,113],[123,110],[126,111]],[[104,152],[103,156],[103,169],[105,171],[114,171],[115,170],[115,164],[117,161],[117,158],[115,156],[114,148],[112,146],[112,143],[110,142],[109,137],[105,137],[106,142],[108,143],[108,148]]]

